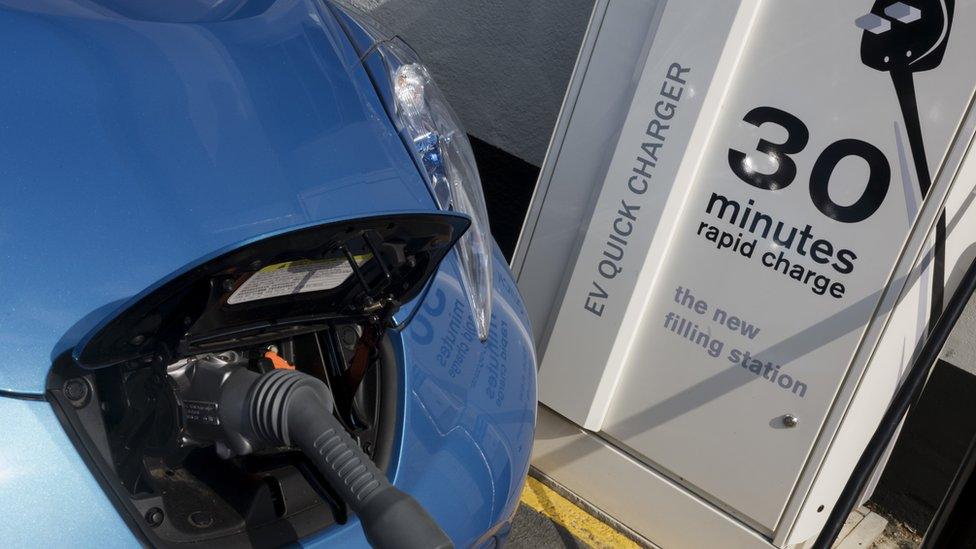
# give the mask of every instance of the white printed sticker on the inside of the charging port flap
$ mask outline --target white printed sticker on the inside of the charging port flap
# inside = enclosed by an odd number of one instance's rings
[[[371,257],[372,254],[363,254],[354,256],[353,259],[358,266],[369,261]],[[237,305],[272,297],[331,290],[342,285],[352,274],[352,265],[345,257],[276,263],[245,280],[227,299],[227,304]]]

